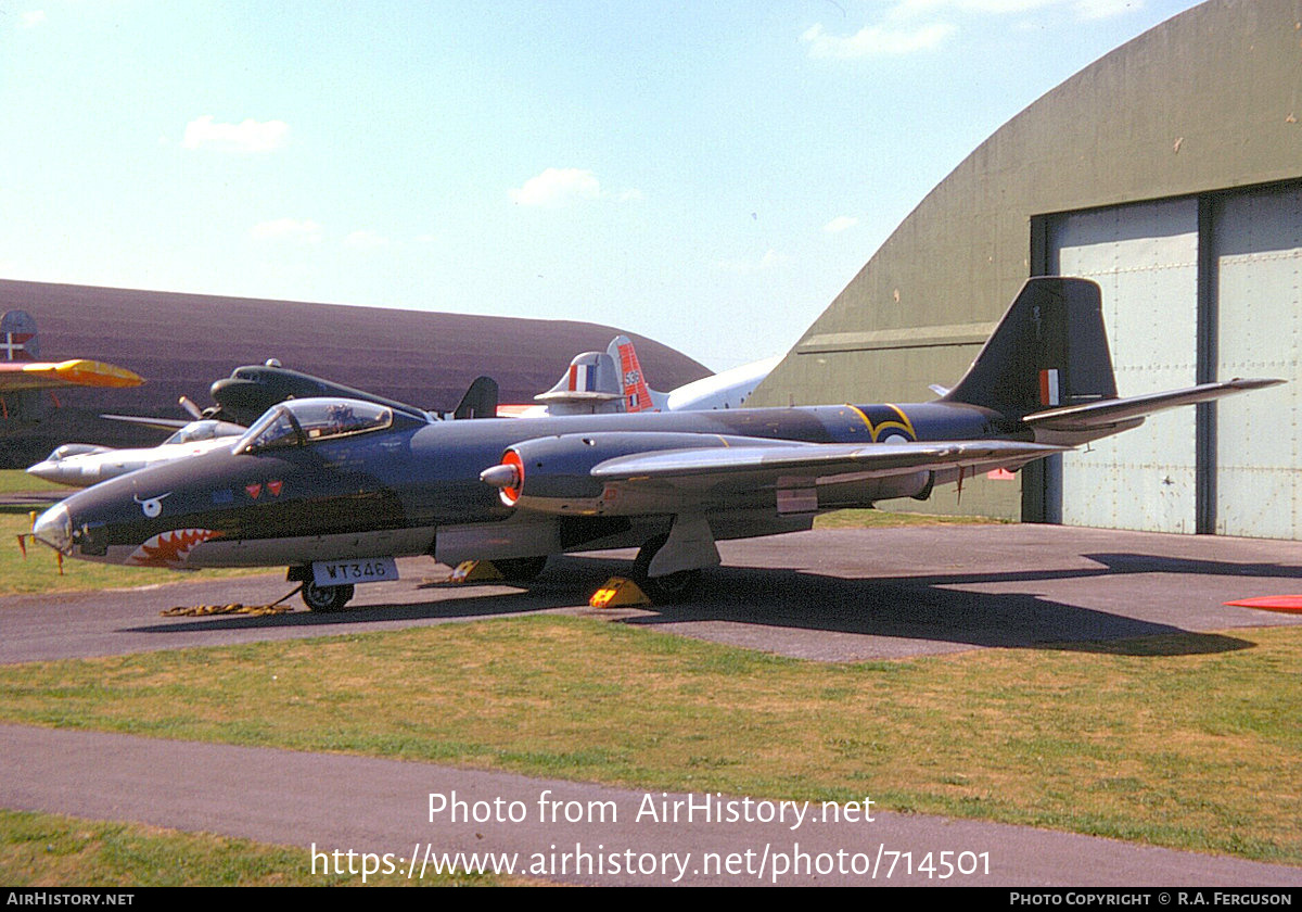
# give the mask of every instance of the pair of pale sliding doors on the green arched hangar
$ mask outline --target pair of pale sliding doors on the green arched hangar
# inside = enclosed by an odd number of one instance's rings
[[[1302,538],[1302,184],[1047,216],[1046,272],[1103,288],[1122,396],[1284,387],[1159,413],[1046,472],[1069,525]]]

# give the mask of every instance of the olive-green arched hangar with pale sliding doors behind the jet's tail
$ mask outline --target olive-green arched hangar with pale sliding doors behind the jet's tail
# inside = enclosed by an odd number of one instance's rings
[[[1302,537],[1302,1],[1211,0],[1000,128],[894,231],[756,405],[919,401],[1027,276],[1103,287],[1121,395],[1288,384],[1155,416],[928,507],[1155,532]]]

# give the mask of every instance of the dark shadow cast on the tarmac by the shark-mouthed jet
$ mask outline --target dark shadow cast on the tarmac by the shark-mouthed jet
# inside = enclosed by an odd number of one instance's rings
[[[979,584],[1022,584],[1121,575],[1216,577],[1302,577],[1302,568],[1237,564],[1146,554],[1083,555],[1096,567],[1036,571],[975,571],[949,575],[842,577],[809,569],[719,567],[707,571],[700,594],[676,606],[621,616],[630,625],[732,623],[786,629],[924,640],[973,646],[1099,651],[1133,655],[1224,653],[1250,648],[1237,637],[1057,602],[1042,594],[982,593]],[[134,628],[176,632],[240,628],[322,627],[487,619],[583,605],[607,577],[629,572],[629,562],[609,558],[553,558],[530,589],[473,586],[465,595],[434,601],[358,605],[335,614],[217,615]],[[418,593],[428,586],[417,586]],[[439,588],[447,591],[445,588]],[[1174,593],[1178,597],[1178,593]],[[1138,642],[1139,638],[1163,641]]]

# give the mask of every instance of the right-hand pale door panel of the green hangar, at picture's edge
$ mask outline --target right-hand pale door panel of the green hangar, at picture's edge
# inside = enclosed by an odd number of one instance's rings
[[[1213,224],[1216,377],[1289,380],[1216,406],[1216,532],[1302,538],[1302,189],[1223,198]]]

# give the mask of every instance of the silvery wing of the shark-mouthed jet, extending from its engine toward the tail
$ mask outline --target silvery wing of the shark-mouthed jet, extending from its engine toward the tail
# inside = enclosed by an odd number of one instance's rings
[[[616,456],[594,478],[700,490],[715,482],[798,486],[909,476],[937,469],[1014,469],[1069,447],[1017,440],[935,443],[756,443]]]

